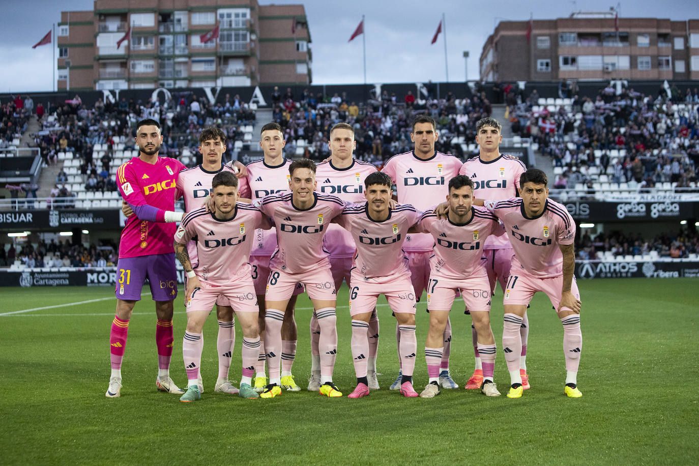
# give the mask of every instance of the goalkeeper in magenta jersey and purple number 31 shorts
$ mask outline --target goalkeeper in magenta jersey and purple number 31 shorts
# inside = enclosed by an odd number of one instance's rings
[[[117,262],[117,308],[109,335],[112,373],[105,395],[121,396],[122,360],[127,344],[129,320],[146,277],[155,301],[157,323],[159,391],[184,393],[170,378],[173,351],[173,300],[177,296],[177,275],[172,237],[182,212],[174,212],[175,186],[182,162],[159,156],[163,136],[160,124],[143,119],[136,125],[137,157],[117,171],[117,186],[135,215],[122,230]]]

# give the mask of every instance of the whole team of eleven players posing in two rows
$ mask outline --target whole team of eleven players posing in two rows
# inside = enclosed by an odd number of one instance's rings
[[[382,172],[352,158],[354,132],[347,124],[333,127],[331,157],[317,167],[308,160],[283,158],[284,140],[278,125],[265,125],[261,136],[264,159],[247,167],[238,164],[236,177],[221,163],[225,151],[221,131],[203,131],[199,147],[203,163],[184,170],[178,161],[157,156],[161,140],[157,122],[138,124],[140,156],[117,173],[117,184],[134,215],[122,232],[117,265],[122,273],[110,334],[108,397],[120,395],[129,318],[145,276],[151,283],[161,283],[160,290],[152,289],[158,314],[157,386],[171,393],[184,392],[168,372],[176,296],[175,282],[166,276],[170,271],[174,275],[168,234],[169,238],[174,235],[175,251],[188,277],[187,331],[182,346],[188,384],[182,401],[201,397],[201,330],[214,303],[219,321],[215,391],[273,398],[282,388],[300,390],[291,375],[296,354],[293,307],[295,296],[303,291],[299,284],[305,285],[315,310],[308,388],[341,396],[332,374],[337,354],[336,289],[343,279],[350,287],[357,377],[349,398],[361,398],[378,388],[375,304],[380,293],[387,296],[397,321],[401,369],[391,388],[408,397],[418,396],[412,387],[417,351],[415,296],[424,290],[430,312],[425,346],[429,382],[420,395],[431,398],[438,395],[440,386],[457,386],[448,369],[449,310],[457,293],[473,317],[477,368],[466,388],[499,395],[493,382],[496,344],[489,321],[496,282],[505,293],[503,350],[511,379],[507,396],[519,398],[528,388],[526,307],[536,291],[547,293],[563,323],[564,392],[573,398],[582,395],[576,380],[582,334],[572,275],[575,224],[563,206],[547,199],[544,173],[526,171],[521,161],[499,153],[500,124],[495,119],[477,124],[480,156],[461,163],[435,152],[435,124],[429,117],[418,117],[411,133],[415,150],[392,157]],[[393,184],[398,203],[391,201]],[[153,189],[154,185],[160,189]],[[520,188],[521,198],[516,197],[515,187]],[[324,194],[327,192],[338,196]],[[197,209],[209,193],[212,212]],[[175,233],[172,222],[179,221],[182,214],[172,209],[180,196],[189,213]],[[250,198],[252,205],[239,198]],[[486,207],[475,206],[474,198],[491,202]],[[516,274],[510,275],[511,264]],[[228,381],[233,311],[243,329],[239,391]]]

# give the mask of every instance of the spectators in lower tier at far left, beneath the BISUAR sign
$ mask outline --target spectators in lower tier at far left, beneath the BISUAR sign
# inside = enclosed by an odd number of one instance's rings
[[[0,266],[9,266],[20,261],[27,268],[43,267],[112,267],[117,263],[117,245],[96,247],[82,244],[73,245],[69,240],[55,242],[39,241],[36,246],[31,243],[20,247],[17,251],[14,245],[8,249],[0,247]]]

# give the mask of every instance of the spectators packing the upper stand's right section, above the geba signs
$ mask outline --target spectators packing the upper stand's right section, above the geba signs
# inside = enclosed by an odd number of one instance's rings
[[[566,94],[570,89],[566,87]],[[668,95],[668,92],[670,95]],[[571,94],[568,105],[539,105],[539,96],[512,93],[512,131],[528,137],[561,167],[554,183],[573,188],[606,175],[630,189],[670,182],[694,187],[699,161],[699,94],[673,86],[657,96],[608,85],[593,98]],[[597,167],[588,173],[590,167]]]

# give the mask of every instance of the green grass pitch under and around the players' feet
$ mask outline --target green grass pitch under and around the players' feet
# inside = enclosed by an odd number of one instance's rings
[[[696,279],[579,282],[583,352],[578,384],[584,393],[579,399],[563,395],[563,330],[542,293],[529,311],[527,367],[533,388],[519,400],[505,398],[509,377],[498,291],[491,316],[498,345],[496,382],[503,396],[487,398],[459,388],[423,400],[389,391],[398,369],[396,325],[381,298],[377,366],[382,388],[368,398],[349,400],[356,379],[343,286],[335,370],[343,398],[305,391],[310,301],[304,295],[297,305],[294,363],[301,393],[282,393],[273,400],[212,393],[217,325],[211,316],[204,330],[205,392],[201,401],[186,404],[154,386],[157,353],[150,296],[144,293],[129,326],[122,398],[110,400],[104,392],[113,290],[5,288],[0,301],[1,463],[696,464],[699,316],[691,290],[698,284]],[[27,309],[32,310],[7,314]],[[182,309],[180,294],[171,365],[180,386],[186,385]],[[417,391],[427,381],[424,310],[424,302],[419,303]],[[453,311],[451,371],[463,386],[473,372],[470,318],[463,315],[460,300]],[[238,327],[231,379],[240,379],[240,344]]]

